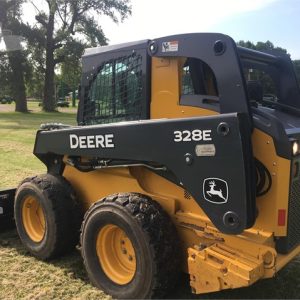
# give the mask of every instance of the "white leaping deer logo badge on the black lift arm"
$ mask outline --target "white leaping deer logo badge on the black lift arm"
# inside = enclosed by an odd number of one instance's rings
[[[203,181],[203,196],[206,201],[222,204],[228,200],[227,182],[220,178],[206,178]]]

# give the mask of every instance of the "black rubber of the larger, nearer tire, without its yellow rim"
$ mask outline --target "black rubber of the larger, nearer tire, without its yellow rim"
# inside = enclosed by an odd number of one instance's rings
[[[97,236],[108,224],[121,228],[135,251],[135,273],[126,284],[112,281],[97,255]],[[180,268],[177,232],[161,206],[147,196],[122,193],[96,202],[85,215],[81,246],[91,282],[113,298],[161,298],[176,284]]]

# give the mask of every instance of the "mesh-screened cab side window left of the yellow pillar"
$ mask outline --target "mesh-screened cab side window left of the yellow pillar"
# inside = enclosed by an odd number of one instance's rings
[[[142,88],[141,55],[103,63],[85,95],[85,124],[141,119]]]

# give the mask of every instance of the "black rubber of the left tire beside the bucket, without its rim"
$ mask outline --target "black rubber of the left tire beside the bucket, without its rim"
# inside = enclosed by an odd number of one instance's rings
[[[25,229],[22,209],[34,197],[44,215],[44,234],[34,241]],[[15,222],[25,248],[41,260],[49,260],[72,250],[79,241],[81,208],[74,190],[62,176],[45,174],[25,179],[16,191]]]

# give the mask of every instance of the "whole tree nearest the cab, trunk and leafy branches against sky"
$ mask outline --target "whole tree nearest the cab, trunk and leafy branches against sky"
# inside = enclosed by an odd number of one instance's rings
[[[66,60],[70,45],[80,42],[75,33],[85,37],[91,45],[105,45],[107,39],[94,15],[107,15],[114,22],[123,20],[131,13],[129,0],[44,0],[47,9],[37,10],[36,20],[44,32],[45,85],[43,108],[55,110],[54,70]]]

